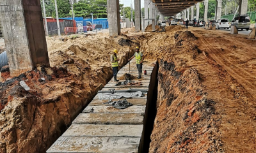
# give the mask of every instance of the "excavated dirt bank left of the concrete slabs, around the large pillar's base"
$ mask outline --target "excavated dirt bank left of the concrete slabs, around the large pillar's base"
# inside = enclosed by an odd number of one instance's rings
[[[51,68],[7,74],[0,83],[0,152],[45,152],[112,77],[113,49],[124,66],[138,44],[98,34],[47,38],[47,46]]]

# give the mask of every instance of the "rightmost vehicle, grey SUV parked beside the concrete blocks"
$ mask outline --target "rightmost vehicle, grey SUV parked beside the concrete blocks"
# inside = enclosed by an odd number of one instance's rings
[[[236,25],[237,29],[241,29],[241,30],[246,29],[246,31],[248,31],[251,25],[250,22],[251,20],[248,15],[239,15],[235,17],[234,20],[232,20],[231,25]]]

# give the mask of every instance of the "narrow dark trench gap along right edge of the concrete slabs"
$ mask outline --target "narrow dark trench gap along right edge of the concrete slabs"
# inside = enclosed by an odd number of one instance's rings
[[[152,70],[150,83],[148,86],[147,104],[146,104],[145,116],[143,120],[143,132],[141,135],[140,147],[139,147],[140,153],[148,152],[150,148],[150,142],[151,142],[150,136],[154,128],[154,120],[156,118],[156,113],[157,113],[158,70],[159,70],[159,63],[156,62],[156,65]]]

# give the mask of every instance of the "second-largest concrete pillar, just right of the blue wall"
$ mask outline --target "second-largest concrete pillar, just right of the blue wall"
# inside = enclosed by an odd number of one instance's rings
[[[118,36],[120,31],[120,8],[118,0],[108,0],[109,36]]]

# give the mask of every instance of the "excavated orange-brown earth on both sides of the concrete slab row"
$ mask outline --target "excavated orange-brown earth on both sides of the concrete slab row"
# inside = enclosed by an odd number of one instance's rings
[[[137,45],[159,65],[149,152],[256,152],[256,40],[180,25],[47,38],[51,68],[1,72],[0,152],[46,152],[112,78],[113,49],[122,67]]]

